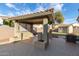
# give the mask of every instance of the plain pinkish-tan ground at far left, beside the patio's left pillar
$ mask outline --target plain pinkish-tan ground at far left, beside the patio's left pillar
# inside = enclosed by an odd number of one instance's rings
[[[9,39],[12,36],[13,36],[13,28],[6,25],[0,26],[0,42]]]

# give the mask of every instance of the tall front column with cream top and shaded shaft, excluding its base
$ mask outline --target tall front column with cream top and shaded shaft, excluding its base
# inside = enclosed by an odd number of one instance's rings
[[[42,40],[45,40],[47,43],[49,43],[48,40],[48,19],[43,19],[43,34],[42,34]]]

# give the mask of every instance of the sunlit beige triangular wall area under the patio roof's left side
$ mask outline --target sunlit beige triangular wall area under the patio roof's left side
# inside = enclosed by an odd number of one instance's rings
[[[33,37],[33,34],[22,27],[20,23],[14,21],[14,36],[10,38],[10,42],[25,40]]]

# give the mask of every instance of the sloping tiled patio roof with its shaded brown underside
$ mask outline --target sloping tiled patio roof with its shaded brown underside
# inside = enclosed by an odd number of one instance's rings
[[[53,8],[45,11],[40,11],[36,13],[20,15],[15,17],[10,17],[10,20],[15,20],[21,23],[30,23],[30,24],[41,24],[43,18],[48,18],[48,20],[53,19]]]

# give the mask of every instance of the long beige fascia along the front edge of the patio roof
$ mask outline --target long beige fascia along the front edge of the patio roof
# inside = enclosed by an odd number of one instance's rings
[[[52,15],[51,12],[40,12],[40,13],[33,13],[33,14],[27,14],[27,15],[21,15],[16,17],[11,17],[12,20],[28,20],[28,19],[36,19],[36,18],[44,18],[48,17],[48,15]]]

